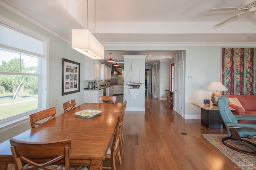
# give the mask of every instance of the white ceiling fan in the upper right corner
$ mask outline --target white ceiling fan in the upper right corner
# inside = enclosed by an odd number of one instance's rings
[[[256,19],[256,0],[244,0],[239,7],[227,7],[227,8],[212,8],[209,10],[209,12],[214,12],[214,11],[231,11],[231,10],[238,10],[241,11],[240,13],[214,25],[220,26],[223,23],[226,23],[236,17],[241,16],[242,14],[249,12],[255,19]]]

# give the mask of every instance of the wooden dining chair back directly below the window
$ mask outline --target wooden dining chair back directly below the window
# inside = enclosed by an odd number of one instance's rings
[[[46,121],[49,121],[56,117],[55,107],[52,107],[50,109],[45,109],[45,110],[42,110],[37,113],[33,113],[33,114],[29,115],[31,127],[34,128],[34,127],[36,127],[36,125],[41,125],[42,123],[38,123],[38,121],[40,121],[46,117],[48,117],[48,119]]]

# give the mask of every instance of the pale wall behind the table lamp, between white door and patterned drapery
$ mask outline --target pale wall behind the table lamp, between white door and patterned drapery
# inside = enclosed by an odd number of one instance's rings
[[[200,119],[200,109],[191,103],[210,99],[213,91],[206,90],[207,86],[221,81],[221,47],[186,47],[185,72],[185,118]]]

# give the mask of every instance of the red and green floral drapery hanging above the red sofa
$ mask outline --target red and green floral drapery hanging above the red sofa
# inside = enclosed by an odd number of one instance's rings
[[[222,94],[256,94],[256,48],[222,48]]]

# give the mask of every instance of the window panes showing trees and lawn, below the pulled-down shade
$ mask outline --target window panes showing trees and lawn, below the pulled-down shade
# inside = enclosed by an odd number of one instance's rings
[[[38,109],[38,57],[0,49],[0,120]]]

